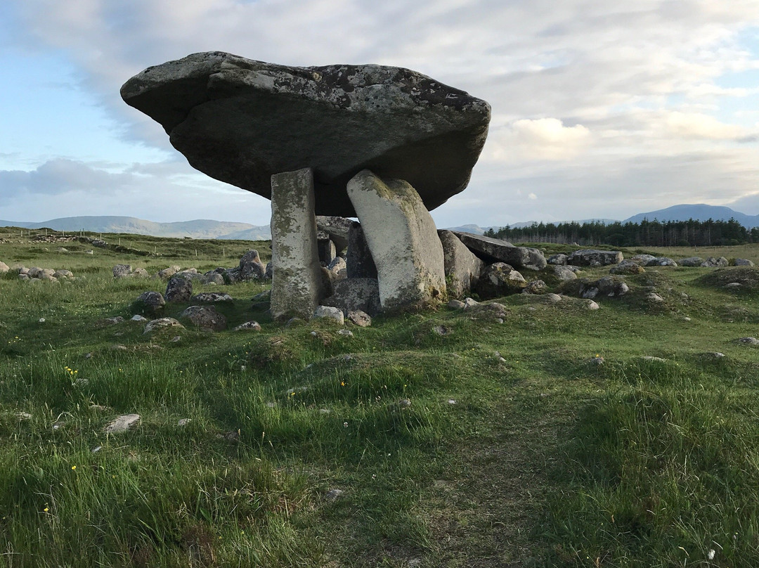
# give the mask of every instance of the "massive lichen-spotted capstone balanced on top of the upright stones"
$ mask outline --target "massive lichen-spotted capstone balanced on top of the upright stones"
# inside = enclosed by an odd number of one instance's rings
[[[316,213],[355,216],[362,169],[408,181],[427,210],[463,191],[490,106],[423,74],[381,65],[285,67],[224,52],[147,68],[121,87],[196,169],[271,197],[270,178],[311,168]]]

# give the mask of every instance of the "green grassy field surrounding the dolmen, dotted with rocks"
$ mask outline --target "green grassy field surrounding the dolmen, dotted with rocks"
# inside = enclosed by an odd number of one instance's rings
[[[36,236],[0,229],[0,260],[77,279],[0,279],[0,566],[759,566],[759,347],[735,341],[759,335],[756,269],[353,336],[272,322],[265,284],[196,286],[235,298],[230,330],[146,335],[102,320],[165,282],[116,263],[232,267],[268,243]]]

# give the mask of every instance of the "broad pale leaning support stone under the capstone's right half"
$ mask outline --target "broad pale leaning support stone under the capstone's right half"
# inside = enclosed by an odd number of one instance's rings
[[[376,264],[383,310],[444,299],[442,245],[417,191],[407,181],[383,180],[364,169],[348,181],[348,197]]]

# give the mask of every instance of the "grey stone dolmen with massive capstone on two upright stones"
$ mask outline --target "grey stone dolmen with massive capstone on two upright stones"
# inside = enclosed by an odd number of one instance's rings
[[[405,68],[287,67],[225,52],[147,68],[121,96],[191,166],[271,200],[272,316],[311,317],[334,292],[317,215],[359,219],[360,229],[334,230],[349,254],[351,236],[368,249],[382,311],[446,298],[429,211],[467,187],[485,101]]]

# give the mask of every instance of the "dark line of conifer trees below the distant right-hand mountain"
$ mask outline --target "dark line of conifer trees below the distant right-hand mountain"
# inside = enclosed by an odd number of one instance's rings
[[[497,231],[488,229],[485,236],[504,241],[576,243],[581,246],[612,245],[615,247],[700,247],[713,245],[744,245],[759,242],[759,227],[749,230],[735,219],[729,221],[665,221],[641,222],[562,222],[533,223],[528,227]]]

